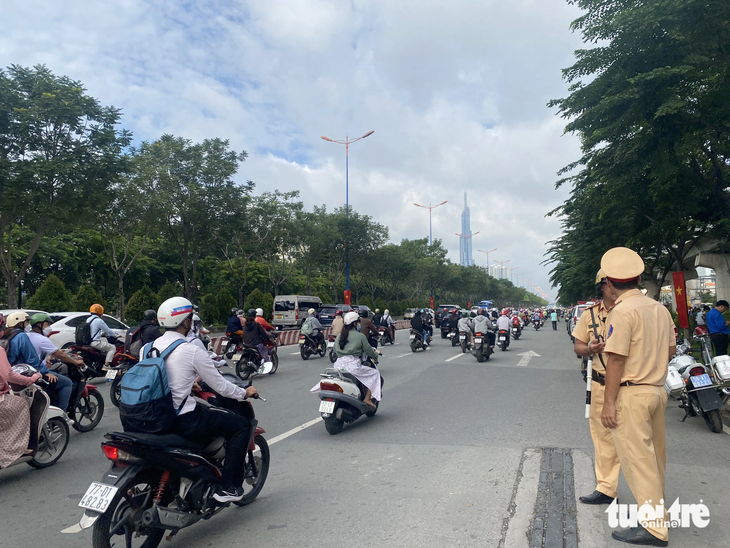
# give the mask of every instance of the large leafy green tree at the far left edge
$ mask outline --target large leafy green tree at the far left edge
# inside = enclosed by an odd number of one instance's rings
[[[125,169],[120,117],[42,65],[0,71],[0,272],[10,307],[46,231],[88,218]]]

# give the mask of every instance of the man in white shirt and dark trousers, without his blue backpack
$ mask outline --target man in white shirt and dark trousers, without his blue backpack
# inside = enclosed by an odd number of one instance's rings
[[[163,352],[174,341],[184,340],[192,330],[193,305],[183,297],[167,299],[157,311],[157,320],[165,332],[152,346]],[[219,436],[225,437],[226,459],[213,498],[221,503],[241,500],[244,457],[248,450],[251,422],[241,415],[212,411],[198,405],[194,398],[188,396],[198,377],[216,394],[234,400],[245,400],[258,394],[258,391],[253,386],[244,390],[225,380],[208,353],[190,343],[183,343],[170,353],[165,360],[165,370],[173,406],[180,409],[171,431],[203,445]]]

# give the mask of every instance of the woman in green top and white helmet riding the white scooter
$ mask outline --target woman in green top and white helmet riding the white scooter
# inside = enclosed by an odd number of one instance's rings
[[[367,389],[363,402],[370,408],[375,409],[372,398],[380,401],[382,398],[380,372],[364,365],[362,362],[363,355],[370,356],[375,363],[378,363],[378,355],[380,351],[373,348],[367,337],[358,332],[358,322],[360,316],[357,312],[348,312],[345,314],[345,326],[342,333],[337,335],[335,339],[335,362],[336,369],[345,369],[352,373],[358,381]]]

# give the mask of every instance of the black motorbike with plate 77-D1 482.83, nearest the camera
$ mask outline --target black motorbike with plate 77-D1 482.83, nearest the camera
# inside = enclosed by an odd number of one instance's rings
[[[224,374],[241,386],[238,378]],[[269,472],[269,446],[248,401],[235,402],[234,409],[217,401],[215,394],[202,392],[198,405],[217,412],[236,413],[251,420],[251,437],[245,457],[244,497],[237,506],[253,502],[263,489]],[[206,395],[207,400],[206,400]],[[261,401],[265,401],[260,398]],[[111,461],[101,481],[93,482],[79,502],[84,514],[78,525],[64,533],[77,533],[93,526],[94,548],[131,546],[138,539],[145,548],[162,542],[165,531],[170,539],[181,529],[209,519],[230,506],[213,498],[221,476],[226,447],[223,437],[202,445],[176,434],[110,432],[102,442],[104,456]]]

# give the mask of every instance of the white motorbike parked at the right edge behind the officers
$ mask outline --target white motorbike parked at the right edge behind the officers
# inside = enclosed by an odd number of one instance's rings
[[[700,415],[710,431],[720,433],[723,431],[720,410],[730,395],[730,389],[722,387],[725,378],[730,380],[730,357],[718,356],[708,367],[688,355],[688,349],[688,341],[677,347],[677,355],[668,365],[664,389],[685,410],[682,422]]]

